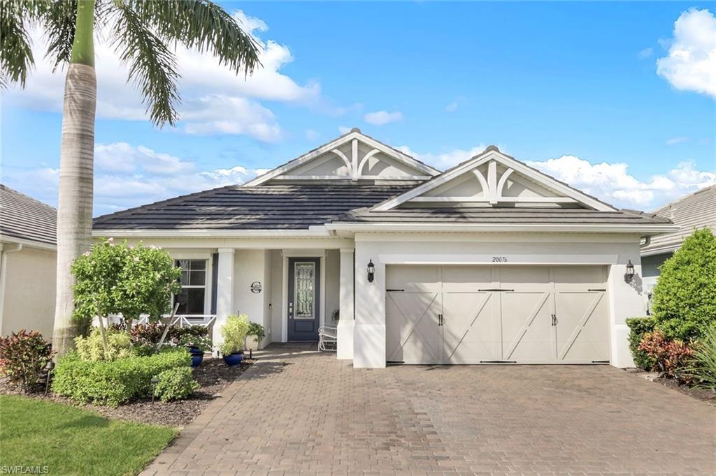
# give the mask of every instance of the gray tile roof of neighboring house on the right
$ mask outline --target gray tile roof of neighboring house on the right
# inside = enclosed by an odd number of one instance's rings
[[[710,228],[716,233],[716,185],[682,197],[655,210],[654,214],[670,219],[678,225],[679,229],[653,237],[648,246],[642,247],[642,256],[668,253],[678,249],[684,238],[692,234],[694,229]]]

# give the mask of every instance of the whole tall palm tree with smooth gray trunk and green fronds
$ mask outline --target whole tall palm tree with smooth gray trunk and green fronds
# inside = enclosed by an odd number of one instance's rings
[[[180,75],[172,46],[207,51],[237,74],[251,74],[261,63],[251,36],[208,0],[0,0],[0,87],[25,85],[34,64],[28,31],[33,24],[44,28],[47,57],[54,68],[69,65],[62,112],[53,336],[53,345],[62,355],[72,349],[76,332],[69,267],[91,242],[95,29],[108,30],[157,126],[178,120]]]

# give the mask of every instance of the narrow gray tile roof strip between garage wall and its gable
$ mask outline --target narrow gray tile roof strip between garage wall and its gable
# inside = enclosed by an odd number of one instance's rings
[[[599,212],[579,208],[492,208],[492,207],[459,207],[459,208],[427,208],[410,207],[374,212],[370,209],[359,209],[348,212],[333,223],[539,223],[539,224],[663,224],[668,219],[654,214],[634,212],[632,210],[616,210]]]

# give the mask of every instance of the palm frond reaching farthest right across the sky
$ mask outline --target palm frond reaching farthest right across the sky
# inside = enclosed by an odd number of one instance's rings
[[[120,0],[115,0],[120,1]],[[233,71],[251,74],[257,66],[258,44],[223,7],[208,0],[121,0],[165,41],[208,51]]]

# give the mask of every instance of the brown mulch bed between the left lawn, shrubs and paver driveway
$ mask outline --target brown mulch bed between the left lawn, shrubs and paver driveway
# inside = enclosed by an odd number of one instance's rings
[[[194,379],[201,385],[188,400],[178,402],[162,402],[151,399],[133,400],[117,408],[105,407],[102,405],[82,405],[72,402],[67,397],[54,395],[52,390],[47,396],[44,392],[26,394],[26,397],[39,398],[41,400],[52,400],[83,407],[92,410],[105,417],[115,420],[128,420],[134,422],[150,423],[153,425],[167,425],[170,427],[185,427],[191,423],[213,400],[221,396],[221,393],[234,380],[238,379],[244,370],[248,369],[255,362],[254,360],[243,360],[237,367],[227,367],[222,359],[204,357],[204,361],[193,370]],[[16,387],[8,384],[5,378],[0,378],[0,394],[21,395],[22,392]]]

